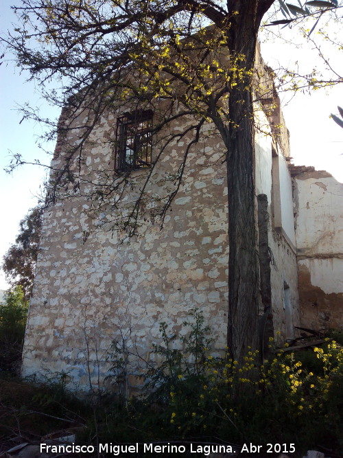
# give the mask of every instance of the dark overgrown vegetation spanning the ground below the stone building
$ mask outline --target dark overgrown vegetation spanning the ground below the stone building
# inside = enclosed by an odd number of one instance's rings
[[[93,444],[95,450],[99,443],[175,441],[294,444],[296,451],[289,455],[295,457],[309,449],[330,450],[330,456],[343,452],[339,343],[327,341],[298,354],[276,353],[263,365],[258,352],[249,352],[239,364],[227,352],[211,352],[210,330],[198,310],[185,326],[189,333],[181,339],[161,323],[162,343],[152,350],[159,362],[147,369],[141,398],[93,393],[81,402],[68,392],[67,374],[60,374],[55,385],[51,380],[35,387],[1,382],[1,435],[10,429],[12,435],[21,431],[37,439],[58,428],[71,428],[78,443]],[[120,360],[119,354],[115,358],[112,371],[117,383],[128,368],[125,358]],[[36,421],[39,417],[44,428]]]

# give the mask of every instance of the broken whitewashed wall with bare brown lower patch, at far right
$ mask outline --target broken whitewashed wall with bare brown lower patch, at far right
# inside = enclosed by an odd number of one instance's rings
[[[314,330],[343,324],[343,185],[328,172],[292,168],[301,323]]]

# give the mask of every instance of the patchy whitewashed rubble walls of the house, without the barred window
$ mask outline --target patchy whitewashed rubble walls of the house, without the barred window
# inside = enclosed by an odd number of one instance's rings
[[[149,171],[132,172],[120,202],[117,196],[105,203],[96,198],[96,182],[115,176],[113,136],[122,111],[100,119],[84,144],[82,161],[73,164],[80,168],[80,183],[67,186],[66,196],[60,194],[45,210],[23,375],[66,371],[81,389],[101,387],[115,357],[111,344],[116,340],[128,355],[127,383],[132,389],[141,381],[135,374],[152,358],[152,343],[161,342],[160,323],[165,321],[171,334],[185,335],[183,323],[193,308],[202,311],[211,328],[213,351],[220,353],[226,345],[228,227],[222,141],[211,124],[202,128],[161,229],[152,215],[171,186],[168,176],[178,170],[192,131],[169,142],[145,190],[138,234],[127,238],[121,222]],[[84,116],[75,119],[75,126],[86,123]],[[188,117],[174,121],[169,133],[155,139],[154,154],[166,135],[182,133],[192,122]],[[64,147],[58,145],[54,167],[63,164],[65,144],[77,141],[77,130],[67,133]],[[268,319],[281,339],[287,337],[285,284],[292,310],[297,300],[296,257],[272,224],[272,140],[259,135],[257,145],[257,194],[268,196],[266,227],[272,260]],[[290,320],[298,324],[295,312]]]

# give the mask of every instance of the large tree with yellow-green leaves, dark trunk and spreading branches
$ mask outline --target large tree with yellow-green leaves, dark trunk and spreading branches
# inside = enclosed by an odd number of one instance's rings
[[[99,208],[104,201],[115,208],[123,187],[132,185],[130,174],[118,174],[113,179],[112,172],[103,172],[87,187],[89,177],[82,176],[77,165],[84,161],[84,146],[106,110],[124,103],[146,109],[156,100],[167,100],[154,133],[187,115],[193,122],[178,138],[191,132],[193,140],[170,179],[174,190],[160,198],[162,205],[154,218],[163,220],[182,182],[191,146],[199,141],[204,122],[213,123],[226,150],[228,345],[234,358],[241,358],[248,346],[258,345],[261,297],[255,222],[253,68],[259,27],[268,11],[272,16],[276,13],[274,24],[279,25],[303,21],[307,16],[320,17],[337,7],[336,1],[308,1],[298,7],[281,0],[22,0],[21,6],[14,7],[21,23],[4,38],[19,65],[29,69],[31,78],[43,89],[51,78],[60,81],[62,97],[56,91],[45,93],[51,103],[66,107],[64,122],[56,128],[64,142],[64,155],[63,161],[53,165],[52,202],[66,189],[71,194],[87,194],[88,190],[89,200],[96,201]],[[279,20],[280,10],[285,20]],[[81,112],[86,113],[87,122],[78,126],[78,141],[68,144],[68,130],[75,130]],[[25,115],[36,113],[26,111]],[[166,138],[165,146],[175,138]],[[146,186],[159,157],[161,153],[154,159],[126,220],[130,236],[137,229]],[[15,163],[21,163],[21,157],[16,157]],[[82,186],[82,181],[86,185]]]

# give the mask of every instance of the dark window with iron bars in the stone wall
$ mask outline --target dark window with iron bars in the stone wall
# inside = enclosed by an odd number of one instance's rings
[[[152,163],[151,110],[137,110],[117,119],[115,170],[148,168]]]

